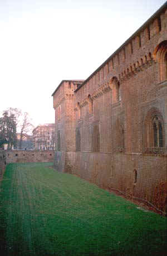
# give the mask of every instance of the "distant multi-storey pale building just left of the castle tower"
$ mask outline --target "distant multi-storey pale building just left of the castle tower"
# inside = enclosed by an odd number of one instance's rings
[[[55,150],[55,124],[38,125],[32,133],[35,150]]]

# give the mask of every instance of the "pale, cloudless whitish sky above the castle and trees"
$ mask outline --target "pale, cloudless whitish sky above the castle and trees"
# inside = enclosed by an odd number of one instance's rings
[[[52,93],[86,79],[164,0],[0,0],[0,112],[54,123]]]

